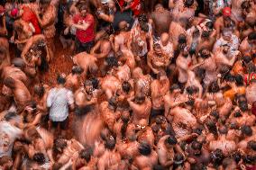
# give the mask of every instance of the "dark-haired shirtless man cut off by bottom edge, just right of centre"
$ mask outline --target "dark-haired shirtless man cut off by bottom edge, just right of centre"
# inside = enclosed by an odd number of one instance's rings
[[[158,154],[151,149],[151,146],[147,143],[141,143],[139,146],[140,156],[135,157],[133,166],[141,170],[150,170],[158,162]]]

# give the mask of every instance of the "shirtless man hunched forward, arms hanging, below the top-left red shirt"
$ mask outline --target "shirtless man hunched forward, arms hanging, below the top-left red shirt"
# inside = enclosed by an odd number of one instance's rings
[[[26,63],[29,76],[35,77],[38,75],[38,72],[43,73],[48,71],[48,62],[50,61],[49,52],[45,37],[42,34],[34,35],[27,40],[21,57]]]

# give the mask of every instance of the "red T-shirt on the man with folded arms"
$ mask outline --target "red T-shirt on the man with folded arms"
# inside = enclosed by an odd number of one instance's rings
[[[77,14],[73,17],[73,21],[75,23],[87,22],[89,24],[86,31],[79,29],[76,31],[76,36],[80,42],[87,43],[95,39],[95,20],[93,15],[87,13],[87,16],[82,17],[80,14]]]

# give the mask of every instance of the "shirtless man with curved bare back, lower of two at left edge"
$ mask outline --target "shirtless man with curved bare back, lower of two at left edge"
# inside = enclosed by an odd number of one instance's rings
[[[14,94],[14,102],[17,106],[17,112],[22,112],[27,103],[32,100],[27,87],[20,80],[14,80],[12,77],[5,78],[4,85],[9,87]]]

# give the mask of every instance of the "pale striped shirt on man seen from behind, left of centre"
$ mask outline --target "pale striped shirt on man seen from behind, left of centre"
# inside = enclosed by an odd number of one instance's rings
[[[65,87],[50,89],[47,107],[51,121],[65,121],[69,116],[69,105],[74,103],[73,93]]]

